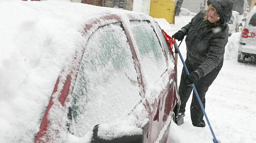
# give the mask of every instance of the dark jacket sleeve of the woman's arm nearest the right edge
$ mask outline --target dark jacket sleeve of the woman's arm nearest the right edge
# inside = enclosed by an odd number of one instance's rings
[[[225,53],[225,46],[228,42],[228,25],[223,30],[215,34],[210,42],[208,53],[205,54],[206,60],[198,67],[202,69],[203,76],[212,71],[223,60]]]

